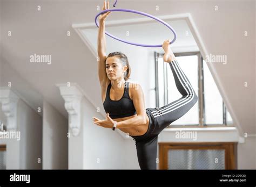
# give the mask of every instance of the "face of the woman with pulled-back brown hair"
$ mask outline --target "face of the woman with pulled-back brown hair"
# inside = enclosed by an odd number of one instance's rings
[[[106,59],[106,74],[109,80],[117,80],[124,77],[127,66],[122,65],[117,56],[111,56]]]

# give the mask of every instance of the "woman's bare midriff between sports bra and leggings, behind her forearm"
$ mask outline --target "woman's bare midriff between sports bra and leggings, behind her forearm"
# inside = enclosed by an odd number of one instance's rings
[[[137,114],[133,115],[133,116],[129,116],[129,117],[125,117],[125,118],[116,118],[113,119],[114,121],[124,121],[130,118],[134,118],[136,117]],[[131,136],[139,136],[139,135],[143,135],[147,132],[147,128],[149,127],[149,117],[146,115],[146,120],[147,123],[145,125],[138,125],[137,127],[130,127],[130,128],[119,128],[119,130],[123,131],[124,133],[129,133],[129,135]]]

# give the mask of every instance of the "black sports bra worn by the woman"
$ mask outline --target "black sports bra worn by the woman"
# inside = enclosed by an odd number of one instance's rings
[[[106,98],[103,103],[105,112],[109,113],[110,118],[124,118],[137,113],[129,96],[129,82],[125,82],[124,94],[119,100],[110,99],[110,89],[111,82],[107,86]]]

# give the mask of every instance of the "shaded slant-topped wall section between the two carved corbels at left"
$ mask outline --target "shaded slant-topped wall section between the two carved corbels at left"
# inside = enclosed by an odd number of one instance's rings
[[[68,119],[43,104],[43,169],[68,169]]]

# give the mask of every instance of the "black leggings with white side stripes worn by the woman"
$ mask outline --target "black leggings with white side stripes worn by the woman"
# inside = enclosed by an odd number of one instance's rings
[[[165,62],[166,63],[166,62]],[[176,87],[182,97],[162,107],[147,108],[149,116],[149,128],[147,132],[139,136],[131,136],[136,142],[137,156],[140,169],[157,169],[157,139],[158,134],[173,121],[187,113],[198,97],[188,81],[177,60],[169,63]]]

